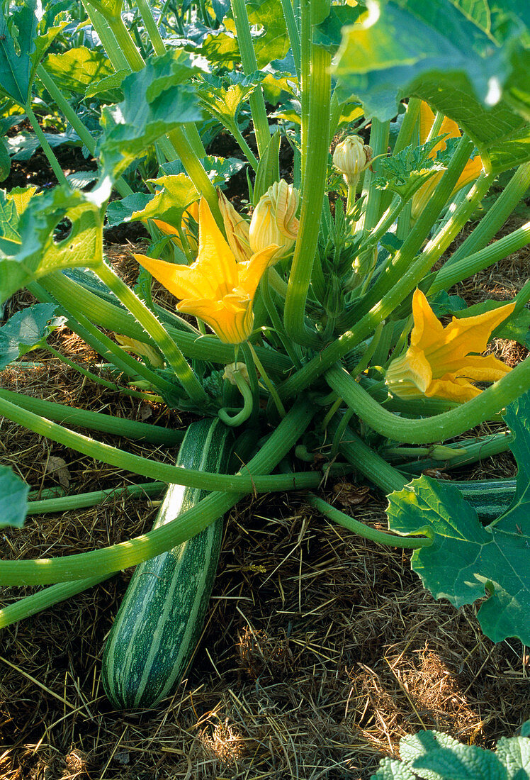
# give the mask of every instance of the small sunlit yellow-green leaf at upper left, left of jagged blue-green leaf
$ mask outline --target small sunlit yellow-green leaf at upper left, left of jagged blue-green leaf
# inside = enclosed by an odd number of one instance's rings
[[[94,82],[115,75],[110,60],[101,51],[86,46],[48,55],[44,67],[59,89],[78,94],[85,94]]]

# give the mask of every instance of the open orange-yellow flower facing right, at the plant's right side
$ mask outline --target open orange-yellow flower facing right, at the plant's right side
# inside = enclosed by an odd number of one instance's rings
[[[436,318],[426,296],[417,289],[412,300],[414,328],[411,346],[404,356],[392,360],[385,381],[401,398],[444,398],[464,402],[481,390],[472,382],[492,382],[504,377],[510,367],[486,349],[492,331],[514,310],[507,303],[476,317],[453,317],[445,328]]]

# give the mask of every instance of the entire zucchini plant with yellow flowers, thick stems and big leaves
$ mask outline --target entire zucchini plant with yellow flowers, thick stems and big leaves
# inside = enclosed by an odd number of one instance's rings
[[[98,162],[90,191],[73,190],[57,170],[53,190],[0,195],[0,304],[26,288],[44,307],[2,326],[1,367],[45,345],[62,318],[111,371],[108,380],[77,367],[90,381],[221,420],[256,446],[237,473],[220,473],[224,458],[209,447],[188,460],[189,434],[176,466],[157,463],[91,434],[170,446],[174,431],[0,392],[5,418],[103,463],[180,485],[182,500],[193,495],[177,514],[180,494],[170,488],[161,523],[129,541],[83,555],[0,560],[0,584],[51,586],[0,610],[0,626],[140,564],[134,596],[159,565],[143,562],[166,554],[167,565],[176,566],[181,544],[183,559],[199,545],[196,576],[209,582],[210,541],[200,545],[218,533],[218,519],[246,495],[299,490],[333,522],[412,549],[412,566],[436,597],[458,607],[488,594],[479,611],[484,632],[495,641],[516,636],[530,644],[530,360],[508,367],[484,354],[496,336],[528,346],[530,282],[512,300],[472,307],[449,294],[530,237],[527,224],[492,241],[530,183],[525,13],[508,0],[496,2],[491,15],[482,14],[484,4],[462,9],[450,0],[421,8],[412,0],[353,6],[309,0],[299,14],[282,2],[279,27],[253,37],[259,13],[231,0],[226,12],[238,67],[212,76],[197,57],[213,58],[211,37],[167,47],[142,2],[149,41],[140,51],[121,0],[86,7],[111,69],[99,85],[111,94],[94,134],[41,68],[53,30],[44,30],[35,0],[10,16],[5,5],[0,12],[2,94],[31,119],[38,77]],[[217,41],[234,41],[228,27],[216,31]],[[87,100],[94,89],[87,88]],[[278,89],[290,105],[271,122],[265,97]],[[248,163],[244,211],[217,188],[231,167],[206,153],[205,111],[231,133]],[[256,151],[239,124],[243,111]],[[347,137],[332,155],[343,130]],[[293,149],[292,183],[280,176],[282,135]],[[507,171],[510,182],[495,190],[496,177]],[[122,198],[110,202],[114,190]],[[493,206],[453,251],[490,192]],[[135,256],[134,289],[104,255],[106,218],[137,220],[150,232],[147,254]],[[65,225],[67,235],[58,232]],[[152,278],[175,296],[175,307],[157,301]],[[462,498],[468,489],[461,494],[425,474],[410,477],[433,459],[456,463],[464,450],[468,463],[479,459],[479,441],[457,445],[457,452],[451,440],[485,421],[498,423],[501,414],[512,438],[496,439],[490,452],[511,447],[519,473],[511,505],[500,502],[492,519],[489,502],[485,527]],[[208,435],[224,437],[217,422],[204,425]],[[400,460],[405,449],[412,466]],[[323,477],[352,468],[389,495],[388,531],[359,523],[318,495]],[[23,524],[28,490],[14,473],[0,471],[0,502],[7,507],[1,525]],[[175,573],[179,587],[183,565]],[[181,613],[182,655],[171,679],[182,672],[202,620],[190,605],[200,602],[202,609],[205,598],[189,593],[179,605],[189,617]],[[147,701],[144,693],[155,702],[168,690],[148,679],[150,659],[168,633],[161,626],[154,644],[147,642],[140,625],[147,607],[143,598],[125,600],[111,634],[115,655],[109,649],[105,660],[108,693],[126,706]],[[118,643],[122,626],[127,647]],[[120,699],[116,681],[131,651],[147,654],[147,665],[132,672],[137,696],[125,686]]]

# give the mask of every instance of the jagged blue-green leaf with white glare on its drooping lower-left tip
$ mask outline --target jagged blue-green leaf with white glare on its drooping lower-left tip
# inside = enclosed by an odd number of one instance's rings
[[[102,114],[104,175],[117,178],[150,144],[182,122],[202,118],[195,87],[196,69],[183,51],[150,58],[122,82],[125,99]]]

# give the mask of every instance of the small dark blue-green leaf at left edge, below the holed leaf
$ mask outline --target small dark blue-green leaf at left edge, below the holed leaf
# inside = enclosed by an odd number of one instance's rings
[[[0,371],[32,349],[44,346],[64,317],[55,317],[55,303],[35,303],[0,326]]]

